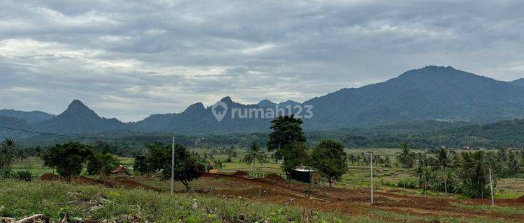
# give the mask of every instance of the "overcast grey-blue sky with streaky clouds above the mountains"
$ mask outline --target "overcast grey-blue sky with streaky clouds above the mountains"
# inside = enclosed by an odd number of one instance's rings
[[[0,1],[0,109],[138,121],[453,66],[524,77],[524,1]]]

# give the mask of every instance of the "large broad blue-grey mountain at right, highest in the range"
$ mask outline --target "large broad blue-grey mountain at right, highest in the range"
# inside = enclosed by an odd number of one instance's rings
[[[524,88],[451,67],[409,70],[387,82],[341,89],[307,100],[309,129],[385,125],[400,121],[490,122],[524,117]]]

